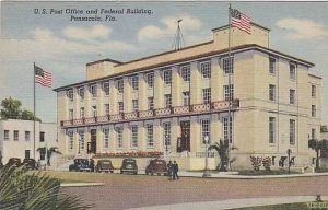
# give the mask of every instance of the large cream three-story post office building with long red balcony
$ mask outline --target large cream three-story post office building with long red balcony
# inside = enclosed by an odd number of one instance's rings
[[[288,149],[296,165],[312,164],[321,110],[314,63],[271,49],[270,30],[255,23],[250,34],[232,27],[231,46],[227,25],[212,32],[179,50],[86,63],[85,81],[55,89],[60,150],[162,151],[196,168],[209,137],[237,148],[232,167],[250,167],[250,155],[278,165]]]

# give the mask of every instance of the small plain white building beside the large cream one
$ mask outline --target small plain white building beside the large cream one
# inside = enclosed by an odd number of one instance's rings
[[[10,158],[35,159],[46,161],[46,149],[57,147],[57,126],[55,122],[21,119],[0,120],[0,151],[2,163],[7,164]],[[55,159],[54,159],[55,161]]]

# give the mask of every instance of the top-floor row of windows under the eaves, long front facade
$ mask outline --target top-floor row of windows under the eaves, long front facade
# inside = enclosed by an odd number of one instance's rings
[[[223,65],[223,71],[224,73],[229,73],[232,72],[233,73],[233,58],[231,58],[230,60],[227,58],[224,58],[222,61]],[[210,79],[211,78],[211,62],[210,61],[203,61],[199,63],[199,69],[201,72],[201,77],[202,79]],[[188,66],[183,66],[180,67],[180,75],[181,79],[185,82],[189,82],[190,81],[190,65]],[[144,79],[145,82],[148,84],[148,88],[153,88],[154,85],[154,72],[148,72],[144,74]],[[133,91],[137,91],[139,89],[139,75],[131,75],[129,78],[130,84],[132,86]],[[165,85],[171,85],[172,84],[172,70],[164,70],[163,71],[163,81]],[[109,82],[103,82],[102,84],[102,89],[105,93],[106,96],[109,95]],[[119,78],[116,79],[116,86],[118,90],[118,93],[122,93],[124,92],[124,79]],[[93,97],[97,96],[97,86],[96,84],[91,84],[89,86],[89,91],[91,93],[91,95]],[[78,89],[78,94],[80,96],[81,100],[84,98],[84,88],[81,86]],[[67,92],[67,95],[69,97],[70,101],[73,101],[73,90],[69,90]]]

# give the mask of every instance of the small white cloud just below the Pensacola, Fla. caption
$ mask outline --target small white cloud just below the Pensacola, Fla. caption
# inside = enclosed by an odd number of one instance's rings
[[[112,33],[112,28],[104,25],[94,25],[92,27],[68,26],[63,30],[63,35],[68,38],[89,40],[89,39],[106,39]]]

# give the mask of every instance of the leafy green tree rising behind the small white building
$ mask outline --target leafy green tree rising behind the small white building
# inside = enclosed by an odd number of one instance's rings
[[[24,119],[40,121],[33,112],[21,109],[22,102],[12,97],[4,98],[1,102],[0,117],[1,119]]]

